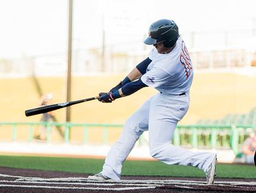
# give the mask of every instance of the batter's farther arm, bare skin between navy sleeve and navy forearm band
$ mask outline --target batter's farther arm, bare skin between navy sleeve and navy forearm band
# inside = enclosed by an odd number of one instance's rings
[[[132,69],[132,71],[122,80],[118,85],[113,87],[109,92],[115,92],[116,90],[124,87],[129,82],[133,82],[134,80],[138,80],[142,75],[144,75],[147,71],[148,65],[150,64],[151,60],[147,57],[144,61],[140,62],[136,66],[136,68]]]

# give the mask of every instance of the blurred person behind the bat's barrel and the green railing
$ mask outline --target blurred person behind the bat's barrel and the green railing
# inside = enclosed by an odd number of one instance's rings
[[[40,106],[46,106],[51,104],[52,101],[52,94],[45,94],[40,98]],[[53,121],[53,116],[52,116],[52,112],[47,112],[47,113],[43,113],[42,118],[40,120],[40,122],[42,123],[46,123],[46,122],[52,122]],[[36,133],[35,135],[35,139],[42,139],[45,140],[46,139],[46,125],[41,125],[40,127],[40,133]]]

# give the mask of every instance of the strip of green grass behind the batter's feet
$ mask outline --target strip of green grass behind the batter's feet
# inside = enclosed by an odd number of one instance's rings
[[[0,156],[0,166],[10,168],[42,169],[71,173],[98,173],[102,159],[65,157]],[[1,172],[0,172],[1,173]],[[159,161],[125,161],[122,175],[204,177],[200,169],[188,166],[168,166]],[[244,164],[217,164],[216,178],[255,178],[255,166]]]

